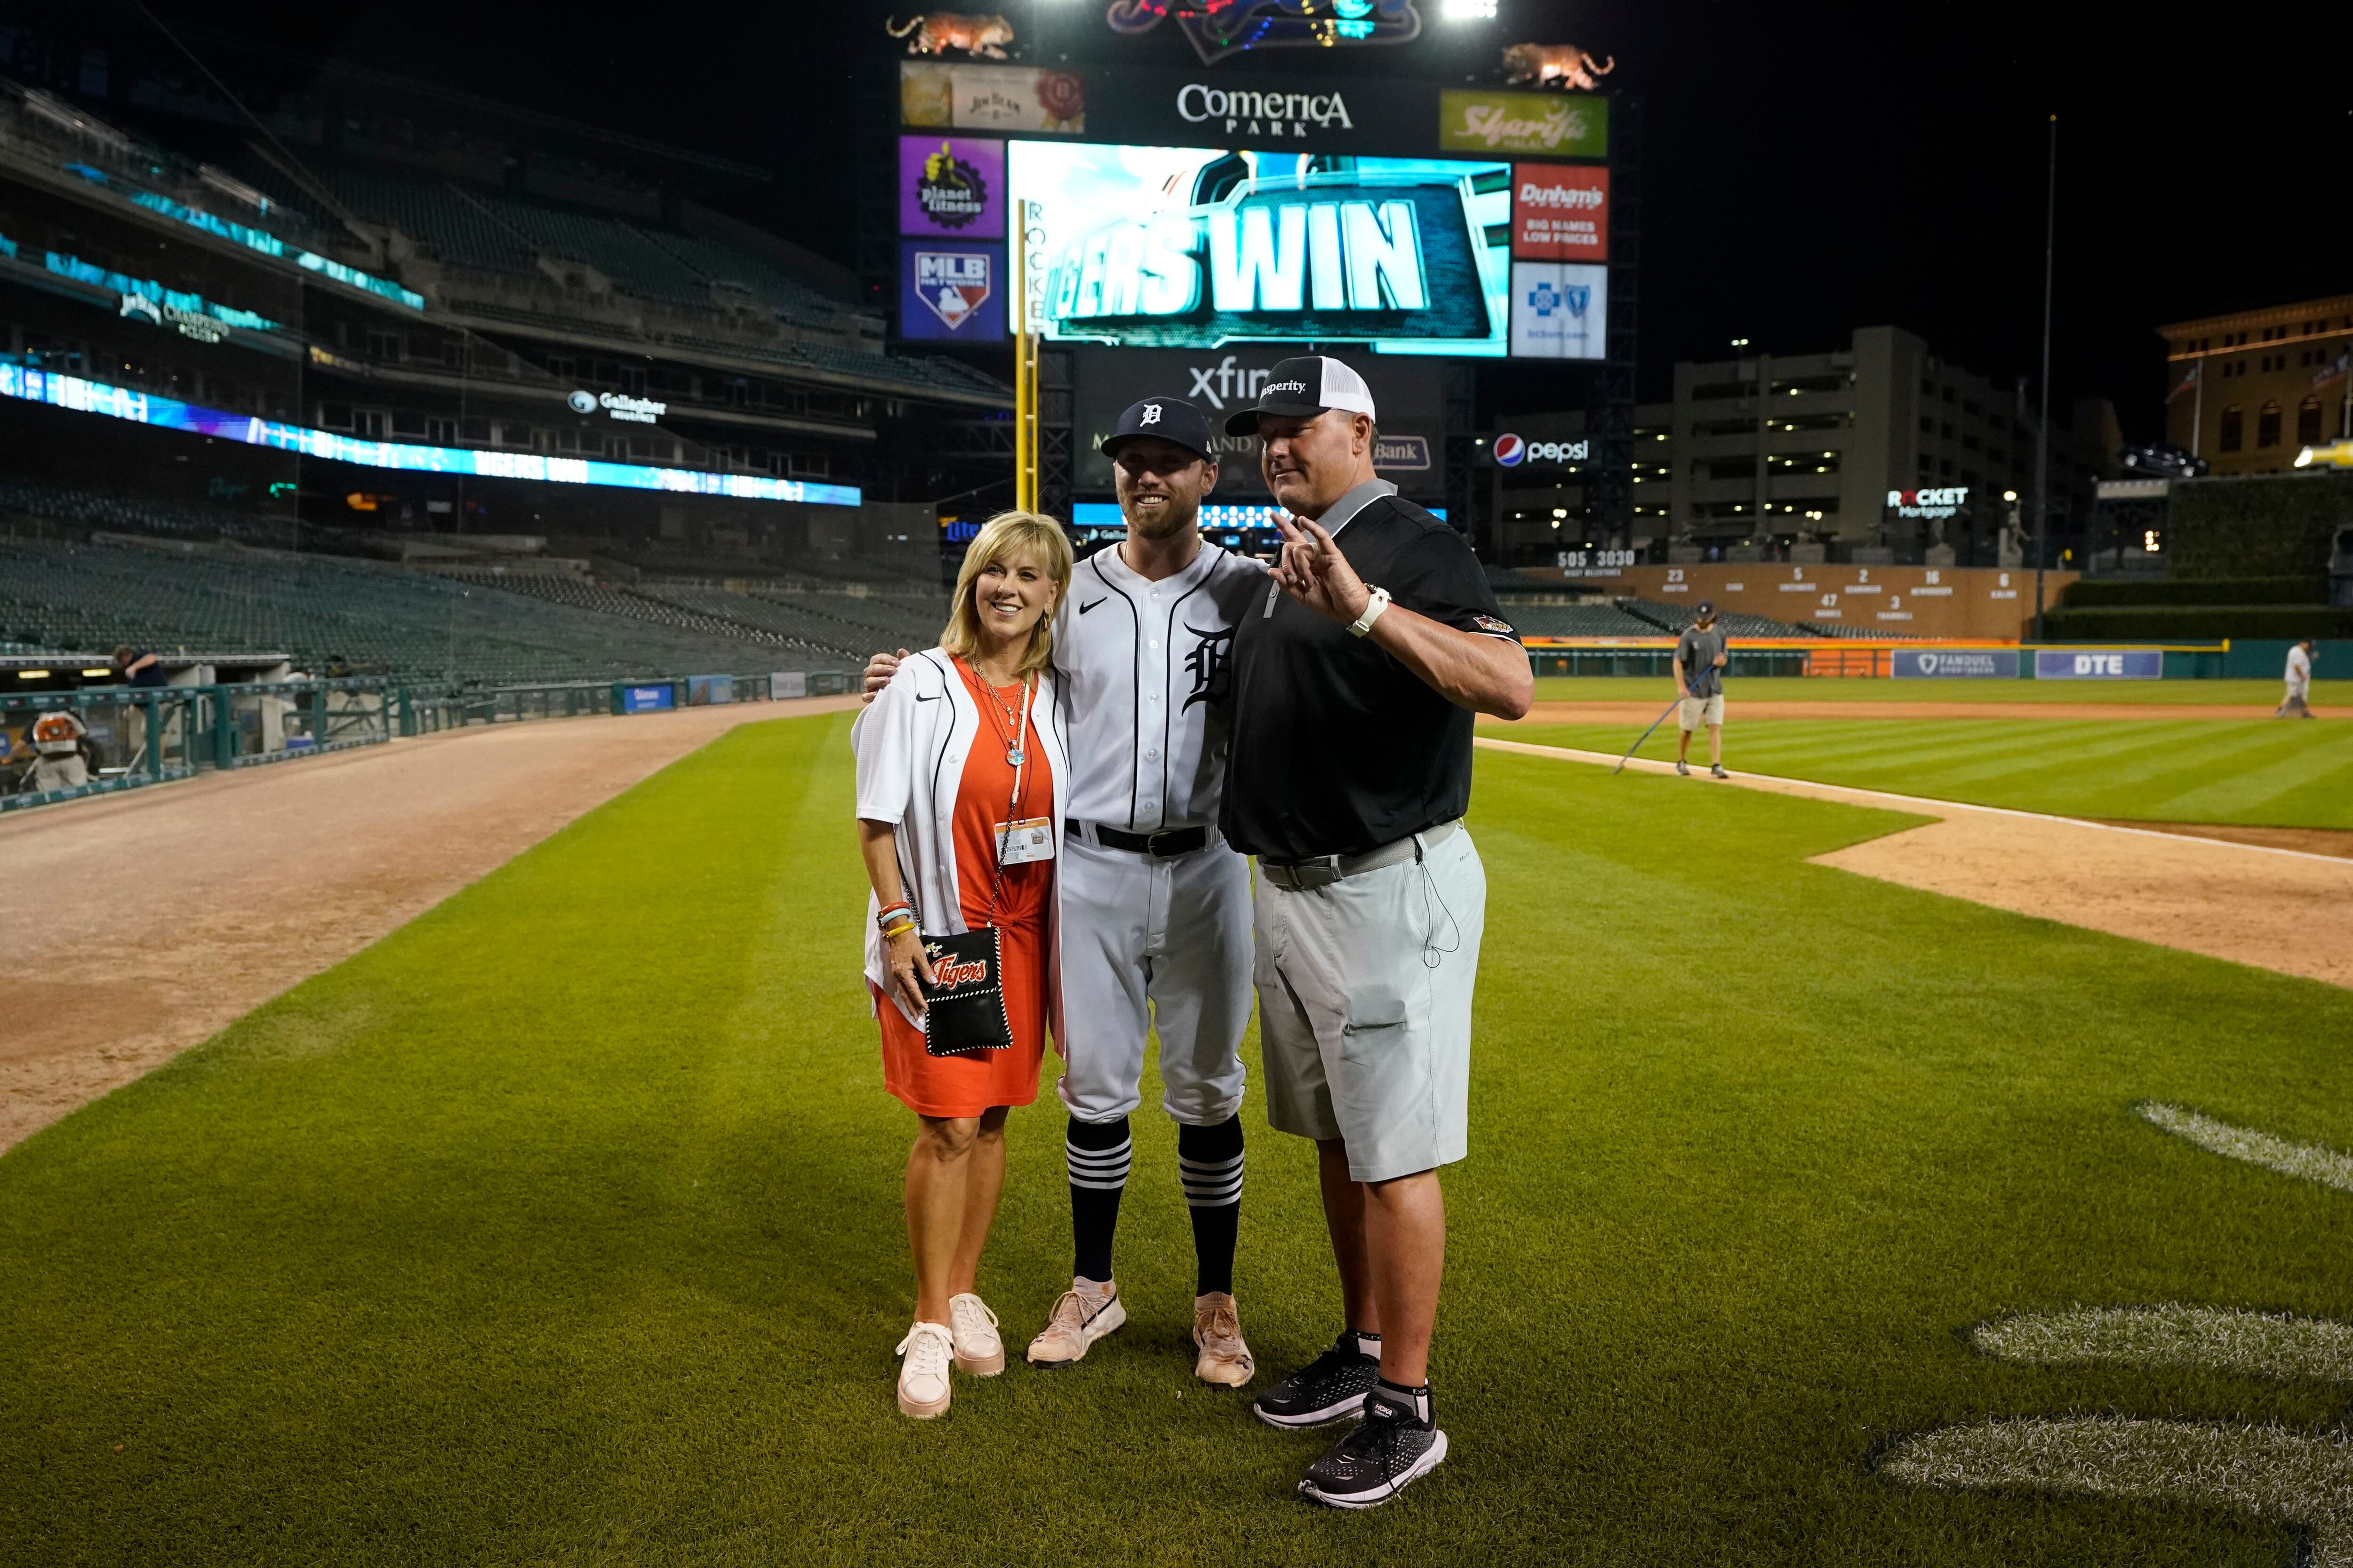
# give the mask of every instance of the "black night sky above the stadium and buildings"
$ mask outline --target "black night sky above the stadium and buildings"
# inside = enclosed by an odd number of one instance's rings
[[[744,216],[849,261],[849,68],[875,47],[880,7],[151,5],[172,26],[772,165],[776,186],[748,193]],[[1096,59],[1191,61],[1167,28],[1111,40],[1101,0],[1002,9],[1082,35]],[[1607,85],[1645,101],[1645,397],[1666,393],[1675,360],[1725,355],[1734,336],[1809,353],[1873,322],[1991,376],[2033,374],[2052,113],[2059,407],[2106,395],[2127,435],[2155,435],[2158,322],[2353,289],[2341,12],[2306,7],[2299,24],[2294,7],[2205,7],[2184,26],[2181,12],[2085,5],[1504,0],[1497,24],[1438,9],[1421,0],[1431,42],[1358,59],[1471,68],[1504,42],[1577,42],[1614,54]]]

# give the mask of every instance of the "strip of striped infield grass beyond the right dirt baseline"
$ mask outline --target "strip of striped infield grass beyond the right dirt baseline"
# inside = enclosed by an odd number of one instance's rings
[[[1640,724],[1511,724],[1480,733],[1624,752]],[[1706,755],[1706,736],[1694,741]],[[1642,757],[1673,759],[1668,719]],[[1744,719],[1725,759],[1981,806],[2082,818],[2353,827],[2353,724],[2299,719]]]

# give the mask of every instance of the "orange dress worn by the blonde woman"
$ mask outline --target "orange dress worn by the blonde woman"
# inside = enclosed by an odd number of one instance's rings
[[[962,672],[965,661],[955,661]],[[974,701],[981,686],[969,675],[965,689]],[[998,686],[998,698],[1021,712],[1021,686]],[[1054,813],[1054,776],[1038,743],[1038,712],[1031,712],[1028,766],[1021,769],[1021,816]],[[1014,795],[1014,766],[1005,762],[1005,743],[981,710],[981,733],[965,757],[965,776],[955,788],[955,896],[965,905],[965,929],[998,926],[1000,969],[1005,976],[1005,1018],[1014,1044],[1007,1051],[972,1056],[932,1056],[922,1048],[922,1030],[899,1016],[899,1006],[875,992],[875,1018],[882,1023],[882,1086],[922,1117],[979,1117],[993,1105],[1031,1105],[1038,1098],[1038,1063],[1045,1058],[1047,1018],[1047,917],[1054,907],[1054,863],[1028,860],[1007,865],[998,891],[998,917],[988,919],[988,884],[995,877],[998,823]],[[873,983],[868,983],[873,990]]]

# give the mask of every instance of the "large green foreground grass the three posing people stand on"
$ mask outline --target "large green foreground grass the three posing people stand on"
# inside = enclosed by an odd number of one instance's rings
[[[0,1559],[2292,1559],[2278,1523],[1871,1458],[1986,1415],[2337,1420],[2325,1382],[2026,1368],[1958,1331],[2353,1312],[2353,1197],[2129,1112],[2353,1147],[2353,994],[1805,863],[1911,818],[1508,755],[1473,809],[1447,1465],[1327,1514],[1292,1481],[1329,1434],[1191,1385],[1153,1117],[1132,1326],[901,1420],[911,1117],[856,978],[845,731],[734,731],[0,1157]],[[1287,1368],[1337,1328],[1332,1269],[1308,1150],[1245,1124],[1245,1326]],[[1059,1145],[1049,1100],[1014,1114],[984,1267],[1014,1342],[1068,1276]]]

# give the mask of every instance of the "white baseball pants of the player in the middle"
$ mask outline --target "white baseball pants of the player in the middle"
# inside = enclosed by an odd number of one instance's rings
[[[1080,1121],[1141,1105],[1153,1025],[1169,1117],[1217,1126],[1242,1110],[1249,860],[1209,839],[1167,860],[1064,839],[1059,1093]]]

